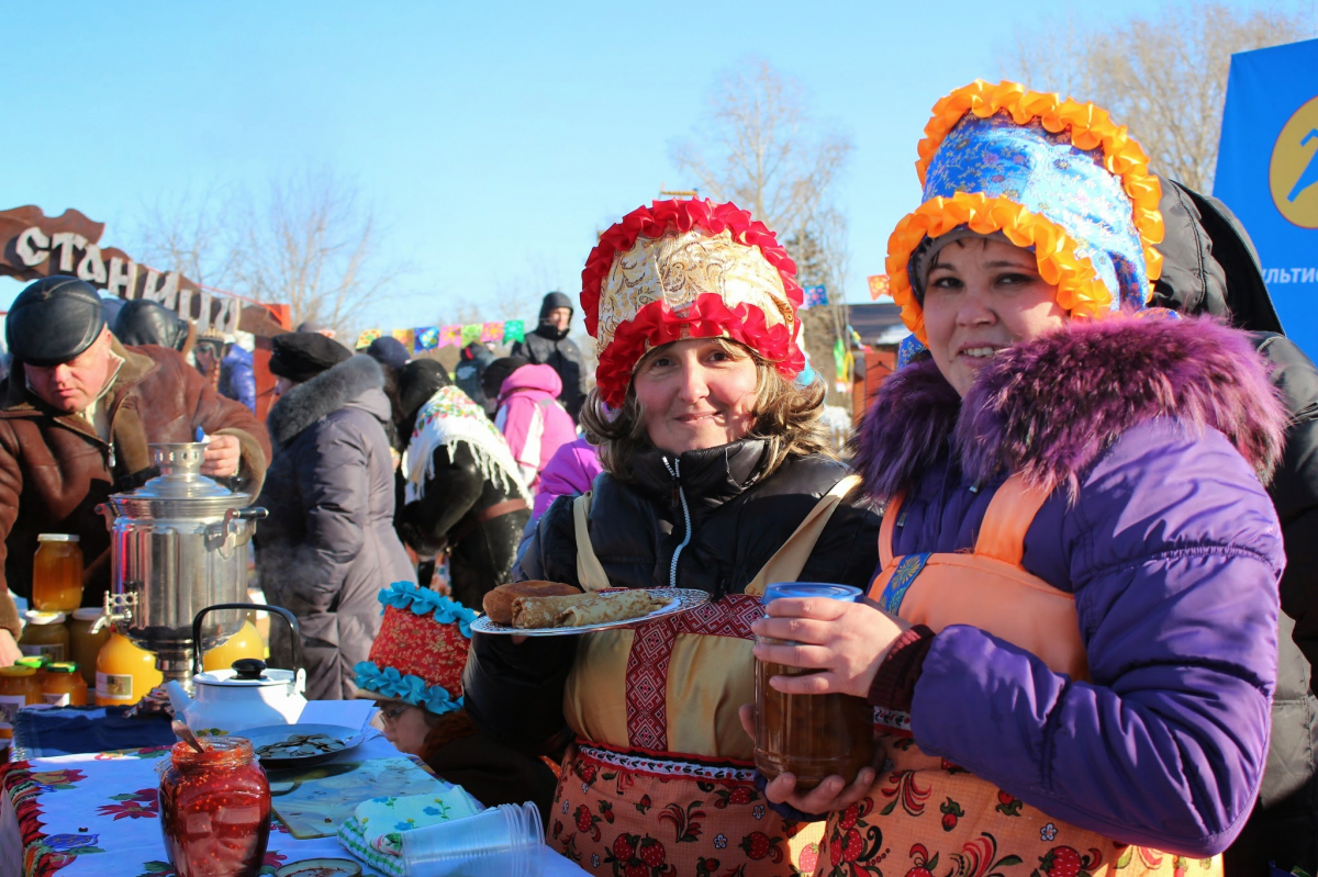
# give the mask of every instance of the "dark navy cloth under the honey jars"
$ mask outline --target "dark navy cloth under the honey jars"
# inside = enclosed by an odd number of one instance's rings
[[[178,737],[163,715],[128,718],[129,707],[20,710],[13,722],[11,760],[51,758],[173,745]]]

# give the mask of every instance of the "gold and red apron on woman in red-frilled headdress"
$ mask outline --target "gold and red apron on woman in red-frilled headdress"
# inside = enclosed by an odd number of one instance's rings
[[[809,874],[822,823],[786,822],[753,781],[737,711],[755,701],[750,624],[772,582],[795,582],[858,478],[840,481],[743,594],[672,619],[584,635],[563,698],[577,733],[563,761],[548,843],[593,874]],[[577,579],[609,581],[573,504]],[[741,869],[741,870],[737,870]]]

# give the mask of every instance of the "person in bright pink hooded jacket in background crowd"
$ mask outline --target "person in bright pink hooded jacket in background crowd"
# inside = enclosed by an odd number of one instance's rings
[[[576,440],[572,416],[558,402],[561,390],[559,373],[547,365],[522,366],[500,388],[494,424],[531,492],[539,492],[540,473],[559,446]]]

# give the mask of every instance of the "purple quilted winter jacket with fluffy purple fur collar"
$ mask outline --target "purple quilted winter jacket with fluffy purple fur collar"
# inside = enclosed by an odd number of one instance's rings
[[[1257,793],[1281,529],[1259,478],[1285,417],[1243,333],[1115,317],[1000,352],[965,400],[932,361],[858,436],[896,556],[973,548],[1008,471],[1052,489],[1027,570],[1075,595],[1091,681],[970,625],[933,637],[912,732],[1045,814],[1119,841],[1224,849]]]

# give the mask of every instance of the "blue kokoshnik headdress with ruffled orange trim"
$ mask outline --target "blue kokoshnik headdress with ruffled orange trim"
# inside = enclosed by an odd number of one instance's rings
[[[1031,249],[1072,316],[1102,317],[1148,299],[1161,269],[1161,184],[1104,111],[977,80],[934,105],[919,149],[923,203],[888,238],[887,270],[921,342],[912,258],[924,241],[957,228],[1000,232]]]

